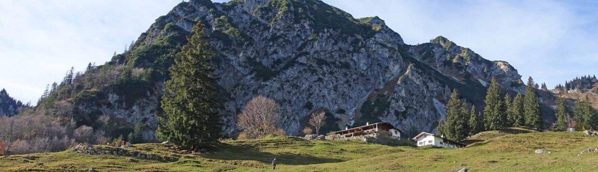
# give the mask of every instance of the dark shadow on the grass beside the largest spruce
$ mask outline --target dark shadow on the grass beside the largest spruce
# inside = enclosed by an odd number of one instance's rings
[[[322,164],[329,162],[342,162],[342,159],[322,158],[311,155],[300,155],[296,153],[280,152],[270,153],[261,152],[251,145],[230,145],[222,143],[218,148],[213,149],[211,153],[200,155],[208,159],[220,159],[226,161],[232,160],[249,160],[263,163],[271,163],[272,159],[276,158],[277,164],[287,165],[308,165],[308,164]]]

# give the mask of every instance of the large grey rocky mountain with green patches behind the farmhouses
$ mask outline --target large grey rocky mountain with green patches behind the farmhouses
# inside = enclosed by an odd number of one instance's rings
[[[511,95],[524,90],[507,62],[442,36],[408,45],[379,17],[355,19],[322,1],[191,0],[158,17],[125,53],[53,87],[38,109],[71,107],[79,125],[103,114],[121,128],[144,122],[153,137],[167,69],[198,21],[217,53],[225,136],[235,136],[236,115],[258,95],[279,104],[288,134],[318,110],[327,111],[324,132],[385,121],[413,134],[446,118],[453,88],[478,109],[492,77]]]

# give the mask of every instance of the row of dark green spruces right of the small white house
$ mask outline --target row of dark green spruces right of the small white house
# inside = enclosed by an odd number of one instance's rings
[[[544,129],[544,119],[540,101],[530,77],[527,81],[525,96],[517,94],[514,98],[503,94],[496,78],[492,78],[486,93],[486,106],[483,113],[478,113],[475,106],[468,109],[458,90],[454,89],[447,104],[446,121],[438,124],[438,133],[447,139],[463,140],[481,131],[500,130],[507,127],[530,127]],[[542,84],[544,87],[545,84]],[[502,96],[504,95],[504,96]],[[512,99],[512,100],[511,100]],[[584,111],[586,112],[586,111]],[[589,112],[589,110],[587,110]],[[590,119],[596,121],[595,119]]]

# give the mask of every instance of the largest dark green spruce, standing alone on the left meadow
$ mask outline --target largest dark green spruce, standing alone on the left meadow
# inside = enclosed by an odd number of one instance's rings
[[[200,149],[209,146],[219,137],[219,102],[217,78],[213,76],[212,57],[205,42],[204,25],[198,22],[187,36],[188,43],[175,56],[170,67],[170,80],[166,81],[158,115],[156,136],[182,148]]]

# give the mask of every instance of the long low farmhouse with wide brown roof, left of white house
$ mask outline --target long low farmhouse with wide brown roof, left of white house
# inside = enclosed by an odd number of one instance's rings
[[[345,130],[328,133],[326,139],[330,140],[359,140],[370,143],[391,144],[401,140],[402,131],[388,122],[369,122],[361,127],[345,128]]]

